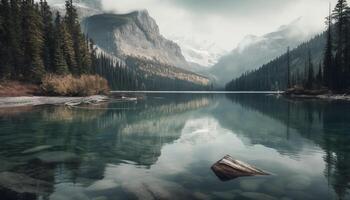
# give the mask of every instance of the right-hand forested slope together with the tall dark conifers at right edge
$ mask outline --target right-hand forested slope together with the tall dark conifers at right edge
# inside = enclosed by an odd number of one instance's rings
[[[333,91],[349,89],[350,8],[346,0],[338,0],[326,24],[324,33],[293,51],[288,48],[286,54],[232,80],[226,89],[283,90],[296,86]]]

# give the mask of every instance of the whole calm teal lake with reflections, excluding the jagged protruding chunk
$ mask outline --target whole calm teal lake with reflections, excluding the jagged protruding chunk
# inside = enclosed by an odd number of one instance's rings
[[[350,199],[350,103],[268,94],[0,109],[0,199]],[[221,181],[225,155],[270,176]]]

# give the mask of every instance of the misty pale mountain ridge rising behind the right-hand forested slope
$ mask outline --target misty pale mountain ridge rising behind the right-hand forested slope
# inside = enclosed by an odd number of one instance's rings
[[[223,56],[210,72],[215,76],[216,83],[223,86],[233,78],[282,55],[288,46],[295,48],[310,39],[314,33],[305,33],[304,30],[303,19],[298,18],[263,36],[248,35],[231,53]]]

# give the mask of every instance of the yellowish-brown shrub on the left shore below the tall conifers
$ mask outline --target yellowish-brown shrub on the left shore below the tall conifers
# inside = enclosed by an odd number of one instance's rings
[[[41,88],[45,94],[59,96],[90,96],[107,94],[108,82],[98,75],[46,75]]]

